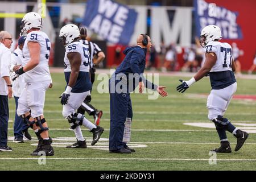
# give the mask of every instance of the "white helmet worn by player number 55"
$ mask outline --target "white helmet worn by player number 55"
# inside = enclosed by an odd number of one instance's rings
[[[79,27],[75,24],[66,24],[64,27],[60,29],[60,42],[67,46],[72,43],[75,38],[80,37]]]

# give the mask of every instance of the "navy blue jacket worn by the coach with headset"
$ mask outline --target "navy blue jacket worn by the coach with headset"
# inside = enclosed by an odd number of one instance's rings
[[[144,85],[148,89],[156,90],[157,85],[152,84],[143,77],[144,69],[146,66],[146,53],[147,48],[142,48],[139,46],[127,47],[123,53],[126,55],[122,63],[117,67],[113,76],[117,77],[119,73],[126,75],[129,83],[129,73],[137,73],[139,75],[139,81],[143,81]],[[138,86],[138,82],[133,82],[133,88],[129,88],[133,91]]]

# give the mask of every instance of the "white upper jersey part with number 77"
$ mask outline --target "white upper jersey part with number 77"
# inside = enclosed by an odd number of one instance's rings
[[[209,42],[204,47],[204,52],[214,52],[217,56],[210,72],[232,71],[232,48],[228,43]]]

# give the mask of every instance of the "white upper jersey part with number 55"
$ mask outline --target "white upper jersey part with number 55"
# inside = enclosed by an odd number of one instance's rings
[[[81,42],[72,42],[68,44],[66,47],[65,57],[64,57],[64,65],[65,69],[64,72],[71,72],[71,65],[69,63],[67,54],[70,52],[77,52],[81,55],[81,65],[80,65],[80,72],[89,72],[89,63],[90,63],[90,54],[88,48]]]

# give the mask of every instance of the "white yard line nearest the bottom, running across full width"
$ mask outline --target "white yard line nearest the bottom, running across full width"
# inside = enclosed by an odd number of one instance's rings
[[[0,160],[42,160],[41,158],[0,158]],[[209,159],[183,159],[183,158],[51,158],[46,160],[209,160]],[[256,161],[256,159],[216,159],[217,161]]]

